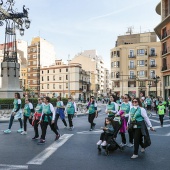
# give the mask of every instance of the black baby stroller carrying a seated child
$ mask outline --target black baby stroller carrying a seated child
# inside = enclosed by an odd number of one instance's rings
[[[108,156],[109,153],[111,151],[115,151],[117,149],[120,149],[121,151],[123,150],[123,148],[121,146],[119,146],[119,144],[116,142],[116,137],[117,137],[117,134],[121,128],[121,119],[120,117],[115,117],[113,118],[113,123],[112,123],[112,126],[114,128],[114,133],[112,136],[110,136],[107,140],[107,145],[106,146],[102,146],[103,149],[105,149],[105,154]],[[102,149],[100,148],[100,146],[98,146],[98,151],[99,151],[99,154],[101,153]]]

